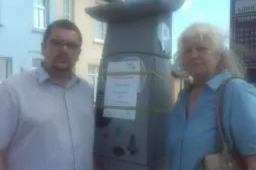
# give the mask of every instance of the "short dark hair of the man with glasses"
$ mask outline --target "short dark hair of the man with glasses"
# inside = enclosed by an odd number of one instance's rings
[[[72,21],[68,20],[68,19],[58,19],[55,20],[54,22],[52,22],[46,29],[45,33],[44,33],[44,37],[42,39],[42,44],[46,44],[47,39],[49,38],[49,36],[51,35],[51,31],[54,28],[62,28],[62,29],[66,29],[66,30],[72,30],[75,31],[78,36],[79,36],[79,45],[82,44],[82,34],[79,30],[79,28],[75,25],[75,23],[73,23]]]

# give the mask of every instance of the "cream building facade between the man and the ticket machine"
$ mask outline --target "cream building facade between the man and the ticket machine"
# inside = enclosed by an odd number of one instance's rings
[[[68,18],[82,33],[82,52],[76,65],[76,74],[87,80],[96,95],[98,69],[106,34],[106,24],[94,20],[85,9],[97,5],[97,0],[56,0],[57,18]]]

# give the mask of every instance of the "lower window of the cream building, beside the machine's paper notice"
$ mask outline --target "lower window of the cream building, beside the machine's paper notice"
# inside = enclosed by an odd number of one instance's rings
[[[98,65],[88,65],[88,82],[93,88],[94,102],[96,101],[98,70],[99,70]]]

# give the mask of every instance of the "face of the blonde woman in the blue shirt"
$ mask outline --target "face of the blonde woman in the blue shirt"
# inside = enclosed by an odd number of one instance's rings
[[[219,60],[215,47],[199,37],[187,37],[181,44],[181,62],[194,79],[207,79],[215,74]]]

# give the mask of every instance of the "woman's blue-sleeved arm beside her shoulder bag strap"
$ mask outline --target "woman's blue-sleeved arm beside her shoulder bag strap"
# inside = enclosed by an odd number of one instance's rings
[[[256,170],[256,88],[242,80],[233,81],[231,86],[232,139],[248,170]]]

